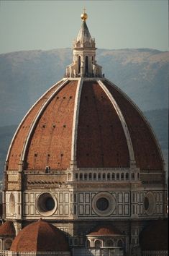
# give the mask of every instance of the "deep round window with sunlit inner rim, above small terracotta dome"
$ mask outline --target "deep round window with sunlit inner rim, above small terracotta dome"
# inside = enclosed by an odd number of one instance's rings
[[[57,209],[57,200],[50,193],[42,193],[37,197],[37,210],[42,216],[51,216]]]

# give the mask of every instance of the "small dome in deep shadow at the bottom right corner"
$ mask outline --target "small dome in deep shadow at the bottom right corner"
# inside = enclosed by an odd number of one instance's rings
[[[142,250],[167,250],[168,249],[168,221],[153,221],[140,234]]]

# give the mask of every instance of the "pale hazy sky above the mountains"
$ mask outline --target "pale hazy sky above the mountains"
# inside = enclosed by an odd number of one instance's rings
[[[168,51],[168,0],[0,1],[0,54],[70,48],[87,25],[98,48]]]

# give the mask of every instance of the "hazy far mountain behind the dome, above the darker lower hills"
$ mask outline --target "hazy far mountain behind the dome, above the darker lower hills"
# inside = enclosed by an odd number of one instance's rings
[[[142,111],[168,108],[169,52],[153,49],[97,51],[105,77]],[[0,126],[18,124],[30,106],[72,62],[70,48],[0,55]]]

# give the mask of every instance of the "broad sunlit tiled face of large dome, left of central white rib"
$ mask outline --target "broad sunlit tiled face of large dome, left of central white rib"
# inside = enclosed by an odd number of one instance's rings
[[[50,101],[27,146],[25,170],[65,170],[70,166],[77,81],[68,82]]]

